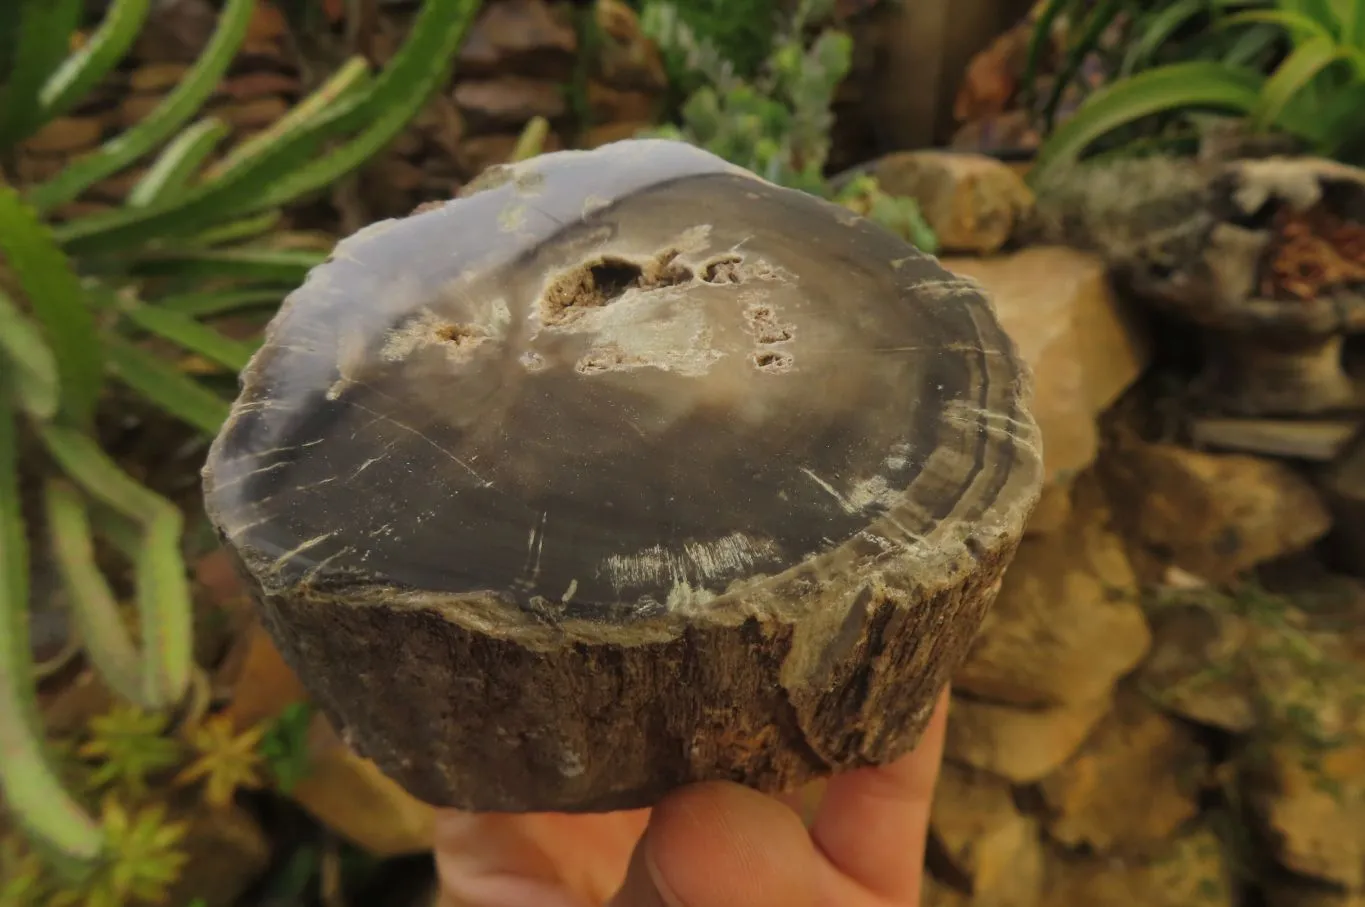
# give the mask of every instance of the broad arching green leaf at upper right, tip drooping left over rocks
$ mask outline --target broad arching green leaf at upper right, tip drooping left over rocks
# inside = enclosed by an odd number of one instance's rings
[[[1111,82],[1091,94],[1039,149],[1029,172],[1041,184],[1059,167],[1073,164],[1095,139],[1153,113],[1215,108],[1249,113],[1260,100],[1264,76],[1220,63],[1173,63]]]

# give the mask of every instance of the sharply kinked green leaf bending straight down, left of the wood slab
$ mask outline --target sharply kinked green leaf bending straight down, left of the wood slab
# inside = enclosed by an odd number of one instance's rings
[[[44,426],[40,436],[52,458],[87,494],[141,525],[142,545],[134,568],[143,647],[142,697],[152,708],[177,705],[190,686],[192,667],[180,511],[119,469],[94,438],[59,426]]]

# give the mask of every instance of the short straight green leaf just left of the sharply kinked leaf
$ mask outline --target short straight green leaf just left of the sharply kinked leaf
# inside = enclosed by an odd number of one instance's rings
[[[142,695],[138,650],[123,626],[113,591],[96,564],[90,518],[81,494],[67,482],[49,479],[45,501],[52,553],[86,653],[116,694],[143,708],[154,708],[156,703]]]

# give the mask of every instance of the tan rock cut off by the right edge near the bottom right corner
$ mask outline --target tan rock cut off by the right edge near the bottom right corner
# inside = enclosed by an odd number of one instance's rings
[[[1365,744],[1275,744],[1249,776],[1248,800],[1280,865],[1365,889]]]

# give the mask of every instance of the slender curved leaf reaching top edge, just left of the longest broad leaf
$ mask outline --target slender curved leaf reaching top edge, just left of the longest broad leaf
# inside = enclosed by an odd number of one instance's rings
[[[222,81],[246,37],[253,7],[254,0],[228,0],[209,46],[171,94],[136,126],[109,139],[98,150],[75,160],[46,183],[35,186],[29,193],[33,205],[38,210],[51,210],[68,202],[171,138],[203,107]]]

